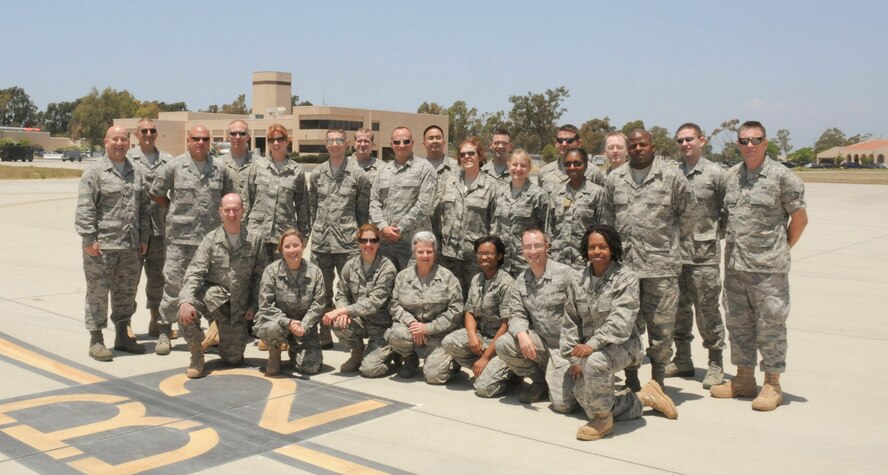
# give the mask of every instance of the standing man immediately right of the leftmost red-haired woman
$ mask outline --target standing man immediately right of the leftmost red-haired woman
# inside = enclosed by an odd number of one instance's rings
[[[367,222],[370,206],[370,182],[364,170],[345,158],[348,146],[344,130],[328,130],[327,153],[330,159],[311,174],[308,203],[311,212],[311,259],[324,275],[324,312],[333,309],[333,280],[342,267],[358,254],[355,233]],[[321,347],[332,348],[330,327],[322,325]]]

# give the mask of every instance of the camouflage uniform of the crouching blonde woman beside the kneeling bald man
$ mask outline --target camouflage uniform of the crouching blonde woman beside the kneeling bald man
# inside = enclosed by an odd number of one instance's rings
[[[318,323],[323,315],[324,277],[314,264],[303,259],[299,270],[290,271],[287,263],[279,259],[265,268],[253,334],[269,348],[289,343],[290,359],[300,373],[317,373],[324,363],[318,338]],[[302,322],[303,336],[290,332],[291,320]]]

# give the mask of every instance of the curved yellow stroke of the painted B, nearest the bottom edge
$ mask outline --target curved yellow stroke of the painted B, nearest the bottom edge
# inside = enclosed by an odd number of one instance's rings
[[[170,427],[170,426],[167,426]],[[203,455],[219,443],[219,434],[213,429],[201,429],[188,433],[188,443],[183,447],[162,454],[111,465],[95,457],[75,460],[68,465],[83,473],[130,474],[153,470],[158,467],[188,460]]]

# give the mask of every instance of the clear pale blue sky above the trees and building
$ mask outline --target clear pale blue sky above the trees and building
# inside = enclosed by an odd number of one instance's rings
[[[883,1],[4,2],[0,88],[42,110],[91,87],[189,109],[293,73],[315,104],[413,112],[566,86],[562,122],[711,131],[760,120],[797,149],[830,127],[888,138]]]

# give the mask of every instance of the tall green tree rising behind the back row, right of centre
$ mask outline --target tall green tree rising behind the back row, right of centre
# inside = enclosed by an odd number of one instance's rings
[[[512,103],[509,122],[512,124],[512,142],[515,146],[533,153],[551,142],[558,120],[567,110],[562,102],[568,97],[570,91],[564,86],[546,89],[541,94],[528,92],[523,96],[509,96]]]

